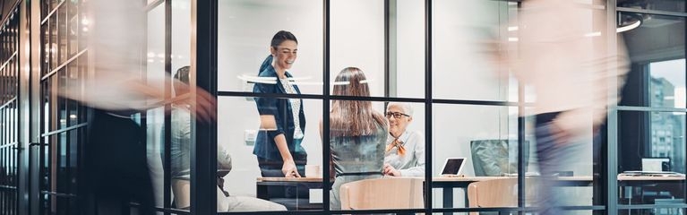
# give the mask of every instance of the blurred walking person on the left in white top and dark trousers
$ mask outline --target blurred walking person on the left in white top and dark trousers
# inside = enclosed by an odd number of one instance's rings
[[[129,202],[140,204],[137,214],[154,214],[146,136],[131,116],[160,107],[166,75],[142,79],[145,68],[146,13],[142,1],[90,1],[88,56],[94,73],[85,82],[70,82],[60,90],[68,99],[92,107],[78,178],[80,214],[129,214]],[[84,21],[85,22],[85,21]],[[87,42],[87,41],[83,41]],[[183,84],[185,83],[178,83]],[[205,90],[190,88],[193,116],[215,120],[216,101]],[[142,114],[145,116],[145,114]]]

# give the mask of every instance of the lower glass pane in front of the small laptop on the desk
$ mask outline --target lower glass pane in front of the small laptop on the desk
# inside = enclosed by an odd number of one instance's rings
[[[468,185],[480,181],[477,177],[517,176],[517,110],[518,107],[434,104],[433,208],[473,207],[470,205],[477,200],[469,199]],[[528,149],[529,145],[523,147]],[[451,159],[464,159],[459,172],[449,168]],[[517,181],[503,183],[517,186]],[[514,200],[516,204],[511,206],[517,206],[517,198]]]

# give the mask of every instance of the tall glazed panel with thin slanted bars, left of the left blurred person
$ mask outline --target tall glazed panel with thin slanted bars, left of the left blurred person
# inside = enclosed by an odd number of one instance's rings
[[[77,210],[78,151],[85,138],[86,108],[66,94],[66,86],[80,86],[87,77],[85,49],[90,22],[81,1],[42,2],[41,117],[39,144],[41,213],[71,214]],[[82,93],[73,92],[74,97]]]

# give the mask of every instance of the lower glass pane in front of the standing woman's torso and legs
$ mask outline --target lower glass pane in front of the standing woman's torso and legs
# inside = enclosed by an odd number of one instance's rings
[[[219,211],[322,210],[322,195],[327,194],[322,191],[322,171],[327,169],[322,168],[319,131],[322,100],[299,100],[302,114],[295,125],[286,106],[294,100],[219,97],[218,113],[227,114],[218,120],[218,174],[220,186],[230,194],[218,195]],[[303,129],[297,133],[296,127]],[[285,145],[300,177],[285,177],[286,162],[275,145],[279,135],[288,140]]]

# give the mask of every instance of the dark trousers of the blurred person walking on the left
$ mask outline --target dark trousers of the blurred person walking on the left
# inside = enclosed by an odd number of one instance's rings
[[[141,126],[130,118],[94,109],[79,172],[81,214],[130,214],[129,202],[138,202],[135,214],[154,214],[152,181]],[[135,211],[135,210],[134,210]]]

